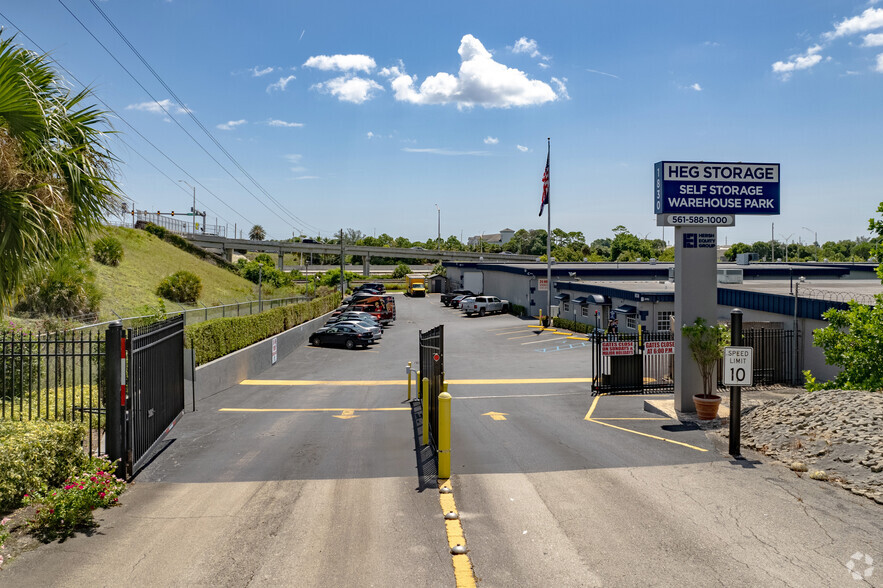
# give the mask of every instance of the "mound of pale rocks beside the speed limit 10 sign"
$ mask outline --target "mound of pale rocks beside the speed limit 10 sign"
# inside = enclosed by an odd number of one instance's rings
[[[883,504],[883,392],[804,392],[748,409],[742,443]]]

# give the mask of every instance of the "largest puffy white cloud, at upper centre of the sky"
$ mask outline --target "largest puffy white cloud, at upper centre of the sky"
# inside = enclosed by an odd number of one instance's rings
[[[429,76],[415,88],[417,76],[409,76],[404,67],[384,68],[380,73],[390,78],[396,100],[412,104],[450,104],[460,109],[479,105],[485,108],[533,106],[557,100],[552,88],[539,80],[528,79],[517,69],[494,61],[481,41],[465,35],[460,41],[460,71],[456,76],[440,72]]]

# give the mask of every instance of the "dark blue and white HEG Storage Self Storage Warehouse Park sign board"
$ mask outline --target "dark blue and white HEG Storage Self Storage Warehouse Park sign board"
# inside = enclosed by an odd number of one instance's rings
[[[656,214],[779,214],[778,163],[660,161],[654,175]]]

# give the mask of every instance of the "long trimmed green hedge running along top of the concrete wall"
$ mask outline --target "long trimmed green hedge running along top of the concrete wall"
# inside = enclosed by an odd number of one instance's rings
[[[196,365],[208,363],[253,343],[331,312],[340,304],[340,293],[298,302],[259,314],[219,318],[184,328],[185,346],[192,348]]]

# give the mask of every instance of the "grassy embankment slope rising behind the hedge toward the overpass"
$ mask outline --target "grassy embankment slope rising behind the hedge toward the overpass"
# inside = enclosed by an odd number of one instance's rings
[[[257,286],[245,278],[185,253],[146,231],[108,227],[107,234],[120,240],[124,253],[117,267],[92,261],[95,282],[102,294],[99,311],[102,320],[114,318],[114,312],[126,317],[133,316],[144,305],[156,306],[156,286],[164,277],[179,270],[199,276],[202,280],[199,301],[206,306],[257,299]],[[264,295],[271,294],[265,290]],[[174,310],[178,306],[166,301],[166,308]]]

